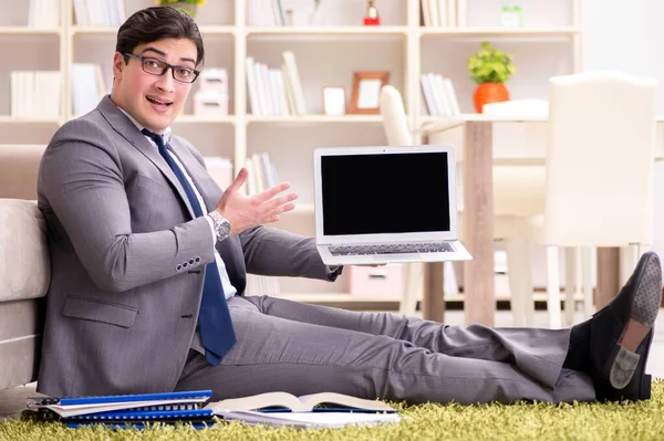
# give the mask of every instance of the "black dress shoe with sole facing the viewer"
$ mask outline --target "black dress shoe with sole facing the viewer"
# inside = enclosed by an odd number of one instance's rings
[[[645,375],[645,365],[661,301],[660,258],[647,252],[618,296],[592,317],[590,375],[598,400],[651,397],[651,376]]]

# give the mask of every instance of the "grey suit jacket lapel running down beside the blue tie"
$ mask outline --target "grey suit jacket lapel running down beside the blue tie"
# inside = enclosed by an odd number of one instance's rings
[[[196,218],[194,213],[194,209],[189,203],[189,199],[187,198],[187,193],[185,193],[185,189],[180,185],[179,180],[166,164],[166,160],[162,158],[159,151],[147,140],[147,138],[138,132],[138,128],[127,118],[125,114],[122,113],[121,109],[115,106],[111,102],[108,96],[105,96],[100,104],[97,105],[97,109],[102,113],[104,118],[111,124],[113,129],[117,132],[122,137],[124,137],[129,144],[132,144],[138,151],[141,151],[147,159],[149,159],[166,177],[166,179],[170,182],[170,185],[175,188],[176,192],[179,195],[180,199],[187,206],[187,210],[191,216],[191,219]]]

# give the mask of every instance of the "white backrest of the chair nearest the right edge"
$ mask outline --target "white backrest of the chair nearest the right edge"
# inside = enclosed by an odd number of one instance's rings
[[[652,243],[656,93],[619,72],[550,80],[547,243]]]

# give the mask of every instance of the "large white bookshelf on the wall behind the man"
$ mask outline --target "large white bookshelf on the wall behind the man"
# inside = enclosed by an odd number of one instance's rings
[[[0,50],[10,62],[1,63],[0,143],[45,144],[59,125],[75,117],[72,112],[72,63],[100,63],[111,71],[115,27],[77,25],[74,0],[58,2],[60,24],[28,27],[29,2],[0,0],[9,13],[0,18]],[[126,15],[154,4],[153,0],[122,0]],[[391,72],[390,83],[404,98],[412,128],[435,120],[421,98],[419,75],[437,72],[449,77],[463,113],[473,111],[475,85],[466,69],[479,42],[488,40],[511,52],[519,70],[508,83],[512,98],[546,98],[547,81],[582,70],[581,0],[521,0],[522,28],[500,25],[501,0],[454,0],[456,25],[424,27],[422,0],[378,0],[382,25],[362,27],[363,0],[322,0],[325,25],[304,25],[310,0],[281,0],[295,11],[292,27],[248,25],[246,0],[212,0],[196,18],[206,45],[206,67],[225,67],[229,74],[229,113],[221,117],[193,115],[195,83],[185,113],[174,130],[204,155],[231,158],[237,169],[257,151],[268,151],[282,180],[299,193],[298,208],[276,224],[301,234],[313,234],[312,153],[317,147],[381,145],[385,143],[378,115],[326,116],[322,88],[345,90],[346,104],[354,71]],[[449,0],[448,0],[449,1]],[[509,2],[513,3],[513,2]],[[295,54],[309,111],[304,116],[257,116],[250,113],[247,92],[247,56],[272,67],[281,52]],[[9,73],[15,70],[56,70],[62,74],[62,112],[59,118],[11,117]],[[416,138],[416,141],[421,139]],[[318,295],[347,302],[346,275],[334,284],[310,280],[281,280],[283,296],[314,300]],[[355,301],[360,297],[353,297]]]

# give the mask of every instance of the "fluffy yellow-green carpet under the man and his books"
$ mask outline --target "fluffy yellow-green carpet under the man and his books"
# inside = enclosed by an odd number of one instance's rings
[[[157,427],[112,431],[59,423],[0,421],[0,440],[664,440],[664,380],[636,403],[517,403],[403,408],[403,421],[373,428],[299,430],[219,422],[214,428]]]

